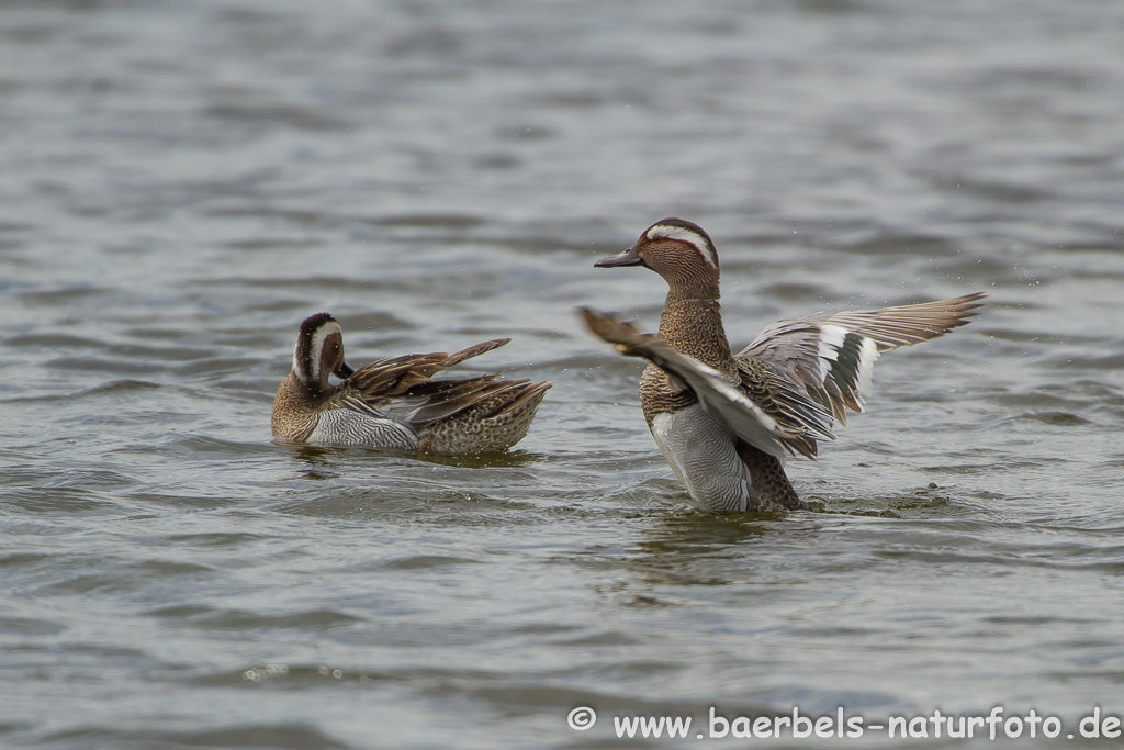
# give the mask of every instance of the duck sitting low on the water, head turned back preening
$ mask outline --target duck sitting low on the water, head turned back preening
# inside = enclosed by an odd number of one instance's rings
[[[273,399],[275,442],[433,453],[507,450],[527,434],[550,380],[432,376],[510,341],[495,338],[453,354],[390,356],[354,370],[344,358],[339,323],[317,313],[300,324],[292,370]],[[342,380],[333,383],[330,376]]]

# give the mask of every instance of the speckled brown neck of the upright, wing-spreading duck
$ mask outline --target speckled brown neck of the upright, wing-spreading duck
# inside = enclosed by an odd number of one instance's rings
[[[734,372],[717,284],[669,290],[660,318],[660,338],[720,372]]]

